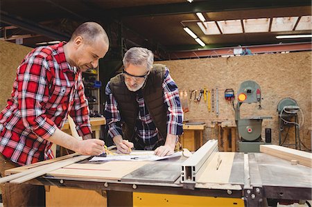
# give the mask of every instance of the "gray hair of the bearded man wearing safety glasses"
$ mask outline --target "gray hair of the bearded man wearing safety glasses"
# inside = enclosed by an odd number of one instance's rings
[[[127,68],[130,64],[142,66],[146,64],[146,70],[150,71],[153,67],[154,55],[147,48],[130,48],[123,57],[123,66]]]

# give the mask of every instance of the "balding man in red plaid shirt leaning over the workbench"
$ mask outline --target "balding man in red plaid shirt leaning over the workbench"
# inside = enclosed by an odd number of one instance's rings
[[[92,139],[81,73],[98,66],[108,51],[105,30],[95,22],[80,25],[68,43],[42,46],[17,68],[8,105],[0,114],[0,170],[53,159],[52,143],[80,154],[104,152]],[[60,129],[70,115],[83,141]],[[43,186],[1,185],[4,206],[44,206]]]

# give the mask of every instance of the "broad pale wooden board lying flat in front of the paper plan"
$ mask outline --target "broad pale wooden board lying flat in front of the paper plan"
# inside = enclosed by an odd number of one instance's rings
[[[49,172],[54,177],[120,180],[126,174],[150,163],[149,161],[111,161],[107,163],[76,163]]]

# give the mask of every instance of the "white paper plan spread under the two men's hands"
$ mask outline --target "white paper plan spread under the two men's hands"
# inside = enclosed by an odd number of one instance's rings
[[[134,151],[130,154],[108,154],[106,157],[103,156],[94,156],[90,159],[90,162],[95,161],[159,161],[162,159],[173,158],[181,156],[182,152],[175,152],[168,156],[157,156],[154,154],[154,151]]]

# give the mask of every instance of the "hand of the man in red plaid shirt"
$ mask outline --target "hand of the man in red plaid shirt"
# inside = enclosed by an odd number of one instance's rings
[[[78,150],[75,151],[83,155],[100,155],[105,152],[104,144],[96,138],[78,141]]]

